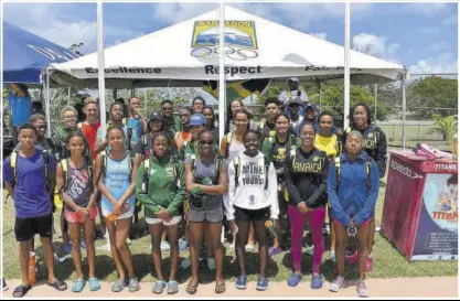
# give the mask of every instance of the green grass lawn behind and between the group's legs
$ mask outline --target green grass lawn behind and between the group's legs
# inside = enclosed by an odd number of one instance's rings
[[[385,197],[385,185],[382,184],[381,194],[378,197],[376,216],[377,225],[381,223],[381,216],[383,212],[383,203]],[[18,244],[14,239],[14,209],[11,198],[3,204],[3,276],[7,279],[19,279],[20,267],[18,259]],[[141,225],[145,225],[143,218],[141,218]],[[58,215],[55,214],[55,225],[58,225]],[[61,233],[58,226],[56,226],[56,234],[54,235],[54,248],[55,252],[62,255],[61,248]],[[43,248],[40,241],[35,240],[35,250],[39,257],[39,280],[46,279],[46,269],[43,258]],[[329,249],[329,237],[325,238],[327,249]],[[96,246],[101,247],[105,245],[105,240],[96,240]],[[150,236],[143,236],[135,239],[131,245],[131,251],[135,262],[135,270],[139,279],[142,282],[152,282],[154,280],[153,265],[150,255]],[[182,252],[181,259],[188,254]],[[374,257],[374,271],[368,273],[370,278],[396,278],[396,277],[439,277],[439,276],[457,276],[457,261],[426,261],[426,262],[408,262],[394,247],[393,245],[383,238],[379,234],[376,234],[375,246],[373,250]],[[163,270],[169,269],[168,254],[163,254]],[[225,251],[225,279],[233,280],[237,275],[237,264],[234,260],[234,251],[226,249]],[[324,255],[325,258],[325,255]],[[74,280],[75,269],[72,258],[68,258],[64,264],[55,262],[56,277],[60,279]],[[258,256],[257,252],[249,252],[246,258],[247,271],[250,281],[255,281],[257,278]],[[87,271],[86,257],[84,254],[84,270]],[[307,277],[303,281],[311,278],[311,265],[312,258],[304,255],[303,257],[303,273]],[[268,276],[275,281],[286,281],[291,272],[291,256],[289,251],[285,251],[275,256],[269,261]],[[357,268],[347,267],[347,278],[357,278]],[[332,261],[324,261],[322,266],[322,273],[324,278],[332,281],[336,277],[336,269]],[[169,272],[164,272],[168,277]],[[97,249],[96,250],[96,276],[100,280],[115,281],[117,279],[117,272],[115,270],[114,261],[109,251]],[[213,281],[214,273],[207,270],[205,262],[200,268],[201,281],[204,283]],[[185,282],[190,278],[190,270],[180,270],[176,277],[180,283]]]

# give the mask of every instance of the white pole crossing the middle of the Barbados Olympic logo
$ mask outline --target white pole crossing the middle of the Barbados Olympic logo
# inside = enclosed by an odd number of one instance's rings
[[[225,107],[226,107],[226,87],[225,87],[225,6],[224,1],[220,3],[220,68],[218,74],[218,133],[224,137],[225,128]]]

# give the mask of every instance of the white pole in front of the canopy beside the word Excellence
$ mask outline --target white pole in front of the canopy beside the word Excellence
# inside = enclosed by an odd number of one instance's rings
[[[103,24],[103,2],[97,1],[97,77],[99,80],[98,92],[99,92],[99,107],[100,107],[100,125],[103,125],[103,137],[106,136],[106,83],[105,83],[105,72],[104,72],[104,24]]]

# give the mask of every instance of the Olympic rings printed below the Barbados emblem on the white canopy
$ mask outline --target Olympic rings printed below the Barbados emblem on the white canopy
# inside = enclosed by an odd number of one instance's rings
[[[217,60],[220,57],[220,46],[193,49],[190,55],[202,60]],[[258,57],[259,53],[254,49],[238,49],[232,45],[225,45],[225,56],[235,61],[246,61]]]

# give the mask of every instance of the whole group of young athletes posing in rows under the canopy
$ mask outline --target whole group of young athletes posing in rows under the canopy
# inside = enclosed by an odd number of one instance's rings
[[[137,97],[129,99],[128,107],[126,116],[121,103],[111,104],[107,125],[100,125],[98,104],[92,98],[84,101],[83,122],[77,123],[73,107],[65,107],[54,139],[45,136],[46,119],[41,115],[33,115],[30,122],[19,127],[19,144],[3,161],[20,246],[22,283],[14,297],[23,297],[31,289],[28,262],[35,234],[43,245],[49,284],[67,289],[54,276],[53,267],[51,200],[56,195],[64,203],[63,236],[68,230],[72,241],[77,275],[74,292],[81,292],[86,283],[90,291],[100,289],[95,270],[97,214],[107,229],[118,271],[111,290],[140,289],[127,240],[133,216],[143,208],[157,278],[153,293],[179,291],[175,273],[182,240],[190,248],[190,258],[184,259],[192,275],[186,292],[197,291],[204,249],[208,268],[215,269],[215,292],[223,293],[223,225],[233,233],[229,247],[235,248],[238,264],[236,288],[246,289],[245,254],[254,249],[255,240],[259,256],[257,290],[268,288],[269,257],[281,252],[289,241],[293,265],[287,282],[296,287],[302,279],[307,221],[313,243],[308,248],[313,257],[311,288],[320,289],[323,225],[329,214],[329,258],[338,266],[338,278],[329,289],[336,292],[344,287],[346,257],[346,261],[359,264],[359,295],[367,295],[364,280],[366,270],[372,269],[370,254],[379,178],[386,170],[386,138],[372,125],[365,104],[355,105],[350,128],[339,130],[331,114],[318,112],[313,104],[306,105],[297,97],[284,103],[268,98],[260,122],[253,120],[240,100],[234,100],[228,106],[224,137],[218,136],[213,109],[201,97],[193,99],[191,108],[180,108],[179,116],[174,116],[170,100],[162,101],[161,112],[153,111],[149,118],[142,116]],[[180,228],[184,229],[183,239]],[[355,234],[350,230],[353,228]],[[161,261],[165,236],[169,277],[163,276]],[[345,256],[349,236],[356,237],[357,250]],[[82,268],[83,243],[88,280]]]

